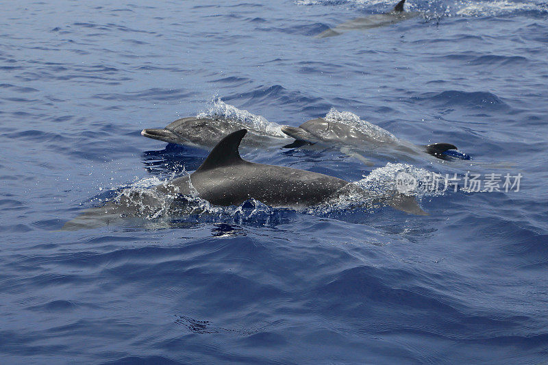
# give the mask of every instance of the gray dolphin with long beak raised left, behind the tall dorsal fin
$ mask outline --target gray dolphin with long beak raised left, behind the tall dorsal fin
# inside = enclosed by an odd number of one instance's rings
[[[180,118],[169,123],[165,128],[143,129],[141,135],[168,143],[210,149],[221,138],[244,128],[249,130],[249,134],[242,141],[244,147],[281,146],[287,141],[286,138],[273,136],[256,129],[249,129],[249,127],[234,119],[223,117]]]

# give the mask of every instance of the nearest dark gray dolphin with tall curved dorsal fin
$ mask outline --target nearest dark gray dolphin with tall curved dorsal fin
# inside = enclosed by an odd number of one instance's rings
[[[246,129],[241,129],[223,138],[191,175],[155,186],[147,194],[129,193],[117,203],[88,209],[62,229],[99,227],[119,221],[119,218],[160,212],[165,202],[155,198],[158,193],[170,197],[197,194],[201,199],[221,206],[240,205],[249,199],[256,199],[271,207],[297,210],[349,194],[371,197],[371,192],[343,179],[242,160],[238,147],[246,132]],[[426,214],[414,197],[394,192],[389,197],[379,199],[404,212]]]

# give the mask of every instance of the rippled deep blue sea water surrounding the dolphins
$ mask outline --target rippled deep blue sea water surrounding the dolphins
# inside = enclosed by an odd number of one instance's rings
[[[0,362],[548,361],[548,4],[409,1],[422,16],[314,38],[393,5],[4,2]],[[245,151],[253,162],[373,186],[402,166],[523,177],[519,192],[423,194],[428,216],[248,202],[59,231],[123,187],[195,170],[207,151],[140,131],[201,112],[359,117],[471,155]]]

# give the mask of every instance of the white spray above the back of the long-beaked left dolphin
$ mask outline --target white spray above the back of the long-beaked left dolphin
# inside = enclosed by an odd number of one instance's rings
[[[207,118],[212,116],[234,119],[250,129],[262,131],[265,134],[270,134],[272,136],[286,137],[286,134],[282,132],[281,125],[267,121],[264,116],[251,114],[247,110],[240,110],[234,105],[225,103],[220,97],[213,97],[208,108],[199,112],[196,117]]]

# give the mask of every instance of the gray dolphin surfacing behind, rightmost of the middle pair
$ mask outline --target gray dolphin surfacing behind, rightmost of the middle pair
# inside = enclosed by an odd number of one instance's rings
[[[428,153],[436,158],[445,160],[444,154],[449,149],[457,149],[454,144],[434,143],[427,145],[416,145],[406,140],[396,138],[390,132],[371,125],[367,128],[360,128],[358,125],[349,125],[340,121],[327,120],[324,118],[312,119],[301,124],[299,127],[282,126],[282,131],[288,136],[295,138],[295,142],[288,147],[299,147],[303,144],[320,144],[327,146],[341,147],[341,151],[348,155],[359,158],[366,164],[360,153],[371,153],[375,155],[389,155],[397,158],[400,155],[420,157],[422,153]]]

